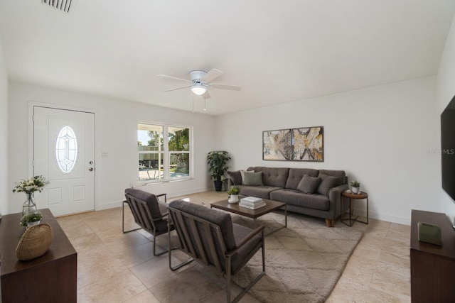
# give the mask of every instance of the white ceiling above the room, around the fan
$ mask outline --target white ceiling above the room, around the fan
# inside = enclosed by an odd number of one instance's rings
[[[0,0],[9,79],[192,111],[191,70],[217,68],[220,115],[436,75],[455,0]],[[203,112],[202,97],[194,98]]]

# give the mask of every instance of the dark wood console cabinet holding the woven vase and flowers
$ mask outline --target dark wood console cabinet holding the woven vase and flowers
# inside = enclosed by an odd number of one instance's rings
[[[20,261],[16,246],[25,227],[22,214],[0,221],[1,302],[77,302],[77,253],[49,209],[40,209],[54,239],[39,258]]]

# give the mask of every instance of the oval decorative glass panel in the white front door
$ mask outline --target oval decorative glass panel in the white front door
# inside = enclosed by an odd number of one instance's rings
[[[71,126],[62,126],[55,140],[55,162],[64,174],[73,170],[77,159],[77,139]]]

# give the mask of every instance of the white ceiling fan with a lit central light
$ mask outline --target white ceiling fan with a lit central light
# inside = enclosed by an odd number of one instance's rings
[[[178,87],[176,89],[168,89],[165,92],[171,92],[177,89],[186,89],[188,87],[191,88],[191,92],[197,94],[198,96],[204,95],[205,99],[210,98],[210,94],[208,94],[208,89],[213,87],[214,89],[230,89],[234,91],[240,91],[242,87],[236,87],[234,85],[225,85],[225,84],[216,84],[211,83],[214,79],[223,75],[223,72],[213,68],[210,72],[205,72],[204,70],[192,70],[189,72],[191,80],[182,79],[178,77],[172,77],[168,75],[158,75],[158,77],[165,78],[165,79],[173,79],[173,80],[181,80],[185,82],[190,82],[191,85],[186,87]]]

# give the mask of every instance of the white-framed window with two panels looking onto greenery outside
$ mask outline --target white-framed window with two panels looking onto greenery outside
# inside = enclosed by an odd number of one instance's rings
[[[191,177],[191,128],[139,123],[137,125],[139,181]]]

